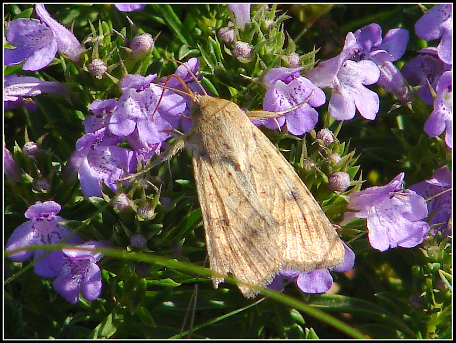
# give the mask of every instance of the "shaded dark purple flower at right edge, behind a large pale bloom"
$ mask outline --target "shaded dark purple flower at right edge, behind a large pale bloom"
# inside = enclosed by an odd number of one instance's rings
[[[433,234],[437,231],[442,231],[444,236],[451,234],[451,229],[449,229],[451,226],[448,226],[451,219],[451,185],[451,170],[445,165],[434,171],[431,179],[409,187],[425,199],[447,191],[427,201],[428,211],[431,215],[429,224],[436,225],[432,230]]]

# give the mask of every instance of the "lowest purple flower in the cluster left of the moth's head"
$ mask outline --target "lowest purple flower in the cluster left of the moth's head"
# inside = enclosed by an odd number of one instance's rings
[[[136,170],[133,151],[118,147],[120,137],[106,134],[106,128],[85,134],[76,142],[76,151],[70,157],[71,166],[78,170],[81,189],[86,198],[101,197],[101,181],[112,191],[116,182]]]

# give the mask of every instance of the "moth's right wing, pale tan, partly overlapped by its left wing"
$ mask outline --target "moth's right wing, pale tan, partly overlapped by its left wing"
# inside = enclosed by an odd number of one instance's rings
[[[285,157],[264,135],[260,137],[258,146],[268,151],[277,183],[272,211],[282,220],[284,268],[309,272],[341,265],[345,248],[331,222]]]

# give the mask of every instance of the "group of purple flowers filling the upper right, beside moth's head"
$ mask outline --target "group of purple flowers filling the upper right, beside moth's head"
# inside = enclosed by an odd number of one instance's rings
[[[446,130],[445,142],[451,148],[452,140],[452,88],[451,74],[440,76],[451,69],[452,5],[436,5],[417,21],[417,35],[426,40],[441,41],[437,48],[426,48],[419,57],[407,62],[402,72],[393,64],[405,53],[409,34],[402,28],[391,29],[382,37],[382,28],[375,23],[364,26],[355,33],[349,32],[344,48],[334,58],[321,62],[306,77],[299,74],[302,68],[277,68],[268,71],[264,83],[268,87],[263,109],[285,111],[305,100],[314,90],[309,103],[279,116],[276,119],[256,121],[269,128],[280,128],[287,123],[293,135],[302,135],[315,127],[318,113],[312,107],[325,103],[319,88],[332,90],[329,114],[336,120],[353,119],[356,110],[365,119],[373,120],[379,110],[378,95],[366,88],[377,83],[394,94],[401,102],[410,99],[404,77],[410,84],[421,85],[418,91],[426,104],[433,97],[428,82],[437,92],[434,111],[425,126],[431,137]],[[443,57],[442,57],[443,56]],[[404,76],[402,76],[404,75]]]

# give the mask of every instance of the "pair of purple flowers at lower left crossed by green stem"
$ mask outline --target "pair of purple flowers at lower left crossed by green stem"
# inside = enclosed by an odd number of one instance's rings
[[[61,206],[52,200],[37,201],[25,211],[29,220],[19,225],[7,241],[6,251],[13,251],[8,258],[14,262],[25,262],[33,256],[36,262],[34,272],[42,277],[55,277],[54,288],[69,303],[75,304],[79,292],[89,301],[95,300],[101,293],[101,272],[96,264],[101,254],[90,250],[102,247],[103,243],[85,242],[78,235],[60,225],[65,221],[57,213]],[[42,258],[46,250],[24,249],[30,245],[77,244],[74,249],[65,248],[52,251]],[[84,250],[78,249],[84,248]],[[41,258],[41,259],[40,259]]]

